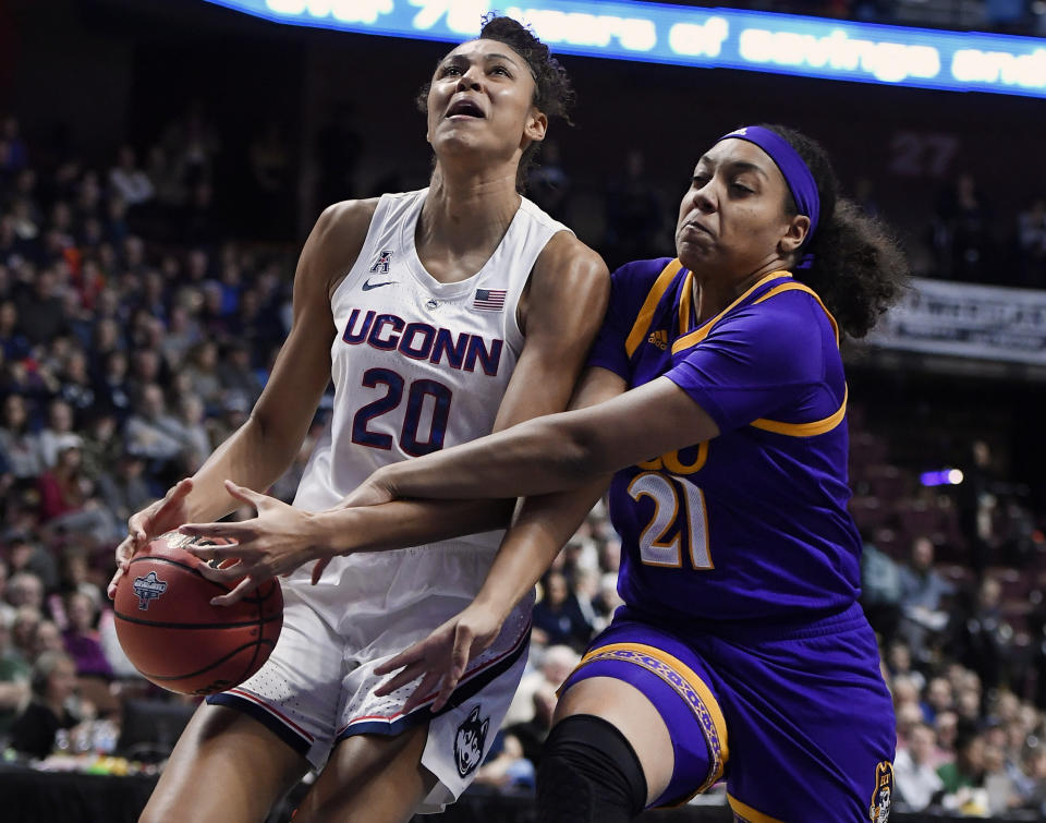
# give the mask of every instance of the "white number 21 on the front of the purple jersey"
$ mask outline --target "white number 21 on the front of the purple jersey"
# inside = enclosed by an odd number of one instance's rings
[[[636,503],[643,497],[654,501],[654,516],[640,535],[640,558],[649,566],[681,568],[683,543],[696,570],[715,568],[708,550],[708,515],[701,488],[685,477],[668,477],[659,472],[643,472],[629,484]],[[683,523],[671,540],[666,535],[683,511]]]

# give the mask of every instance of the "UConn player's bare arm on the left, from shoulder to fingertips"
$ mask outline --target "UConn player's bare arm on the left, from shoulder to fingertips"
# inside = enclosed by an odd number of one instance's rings
[[[135,552],[186,520],[216,520],[240,501],[227,479],[266,488],[294,459],[319,398],[330,380],[335,334],[329,294],[355,261],[366,237],[373,201],[350,201],[324,211],[313,228],[294,277],[294,318],[265,390],[247,422],[207,459],[192,477],[131,517],[129,535],[117,549],[110,596]]]

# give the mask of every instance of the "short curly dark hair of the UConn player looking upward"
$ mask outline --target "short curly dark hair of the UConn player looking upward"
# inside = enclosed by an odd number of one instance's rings
[[[491,12],[483,17],[478,39],[503,43],[522,57],[534,77],[534,107],[549,118],[558,117],[568,125],[574,124],[570,119],[570,111],[576,102],[577,95],[567,75],[567,70],[552,57],[548,46],[537,39],[528,26],[524,26],[513,17]],[[428,110],[428,90],[431,85],[430,82],[426,83],[418,92],[416,102],[422,113]],[[521,192],[527,173],[534,165],[539,145],[534,142],[523,150],[515,176],[515,186]]]

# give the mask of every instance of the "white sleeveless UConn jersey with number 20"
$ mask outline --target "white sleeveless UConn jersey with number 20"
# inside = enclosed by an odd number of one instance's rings
[[[387,463],[489,434],[523,334],[516,304],[545,244],[567,227],[521,198],[467,280],[440,283],[414,247],[428,190],[386,194],[331,299],[333,412],[294,505],[335,506]],[[500,532],[465,538],[496,546]]]

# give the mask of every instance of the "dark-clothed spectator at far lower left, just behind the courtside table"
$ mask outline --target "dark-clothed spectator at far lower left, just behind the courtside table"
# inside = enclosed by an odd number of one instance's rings
[[[45,652],[33,666],[33,700],[11,727],[11,748],[41,760],[56,746],[60,729],[83,718],[72,711],[76,665],[62,652]]]

